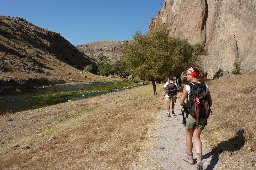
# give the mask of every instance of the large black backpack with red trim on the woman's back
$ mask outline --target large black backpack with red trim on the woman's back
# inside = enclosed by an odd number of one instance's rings
[[[199,119],[206,119],[205,126],[207,125],[207,119],[212,114],[210,109],[210,99],[206,92],[205,83],[187,83],[190,87],[188,109],[189,114],[196,119],[196,125],[198,125]]]

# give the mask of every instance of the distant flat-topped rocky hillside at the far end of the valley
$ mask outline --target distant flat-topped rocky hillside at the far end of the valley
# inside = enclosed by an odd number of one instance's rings
[[[120,60],[120,55],[124,45],[129,44],[130,41],[98,41],[83,45],[77,45],[81,53],[92,57],[98,63],[104,59],[100,56],[101,54],[107,57],[104,62],[115,63]]]

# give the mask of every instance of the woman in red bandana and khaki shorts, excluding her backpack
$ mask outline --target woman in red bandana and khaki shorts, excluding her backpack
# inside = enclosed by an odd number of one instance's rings
[[[188,82],[195,84],[195,83],[200,83],[197,78],[204,78],[204,71],[199,70],[196,67],[190,67],[187,70],[186,77]],[[201,84],[201,83],[200,83]],[[210,101],[210,106],[212,105],[212,99],[210,95],[210,91],[208,86],[206,86],[206,93],[208,93],[209,96],[209,101]],[[189,103],[189,93],[190,93],[190,86],[185,85],[183,88],[183,92],[180,98],[180,105],[186,106],[187,104],[184,102],[185,98],[187,98],[187,103]],[[202,142],[200,139],[200,134],[202,130],[204,129],[206,119],[199,119],[198,123],[196,123],[196,119],[193,118],[190,114],[186,118],[186,146],[187,146],[187,156],[183,158],[188,164],[194,165],[193,161],[193,153],[192,153],[192,148],[193,148],[193,143],[192,143],[192,137],[194,139],[194,144],[195,144],[195,149],[196,149],[196,157],[197,157],[197,170],[203,170],[203,162],[202,162]],[[196,125],[197,124],[197,125]]]

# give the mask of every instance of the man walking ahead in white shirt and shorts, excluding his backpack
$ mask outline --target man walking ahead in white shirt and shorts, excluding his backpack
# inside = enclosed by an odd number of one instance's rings
[[[173,83],[175,85],[174,87],[176,87],[176,90],[175,89],[173,89],[173,90],[175,90],[175,91],[179,90],[178,85],[175,82],[173,82],[173,77],[172,76],[169,76],[169,81],[165,83],[164,90],[167,90],[167,85],[170,84],[170,83]],[[175,114],[174,113],[174,106],[175,106],[174,102],[176,101],[176,95],[170,97],[168,94],[165,94],[165,101],[167,101],[167,116],[170,117],[171,102],[172,102],[172,114],[173,115]]]

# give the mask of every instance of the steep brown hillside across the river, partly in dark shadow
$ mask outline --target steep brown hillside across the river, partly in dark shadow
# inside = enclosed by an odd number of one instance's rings
[[[104,81],[80,73],[95,63],[59,33],[17,17],[0,16],[0,92],[56,83]],[[73,66],[73,67],[71,67]]]

